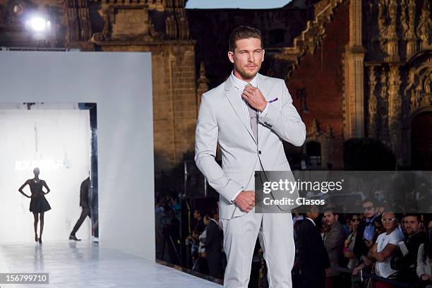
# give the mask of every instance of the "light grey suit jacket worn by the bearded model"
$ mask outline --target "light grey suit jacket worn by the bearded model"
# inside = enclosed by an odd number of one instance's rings
[[[210,186],[220,193],[220,218],[244,215],[232,198],[241,189],[255,190],[253,174],[258,157],[265,171],[289,171],[282,140],[301,146],[306,127],[289,95],[284,80],[258,74],[258,88],[268,104],[253,136],[244,104],[231,77],[201,99],[195,136],[195,161]],[[215,161],[216,145],[222,151],[222,167]]]

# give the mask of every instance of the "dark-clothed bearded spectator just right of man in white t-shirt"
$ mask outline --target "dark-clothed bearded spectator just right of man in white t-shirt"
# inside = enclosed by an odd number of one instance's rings
[[[416,263],[419,246],[427,243],[428,236],[419,231],[419,215],[407,214],[402,223],[405,239],[399,244],[392,268],[399,270],[398,278],[401,282],[413,283],[417,280]]]

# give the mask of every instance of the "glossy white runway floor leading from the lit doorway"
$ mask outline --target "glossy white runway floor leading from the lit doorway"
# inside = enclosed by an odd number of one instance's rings
[[[0,272],[49,273],[49,284],[0,284],[1,288],[222,287],[91,241],[0,244]]]

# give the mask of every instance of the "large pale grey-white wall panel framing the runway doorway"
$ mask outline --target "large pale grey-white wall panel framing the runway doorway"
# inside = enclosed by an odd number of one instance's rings
[[[97,103],[100,243],[154,260],[150,53],[0,52],[0,63],[0,102]]]

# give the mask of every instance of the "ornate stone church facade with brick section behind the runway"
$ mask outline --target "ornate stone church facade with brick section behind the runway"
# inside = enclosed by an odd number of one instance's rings
[[[308,128],[293,162],[342,168],[343,143],[376,138],[401,167],[431,169],[428,0],[294,0],[268,10],[186,10],[184,0],[0,0],[0,47],[152,52],[155,172],[193,149],[200,95],[226,78],[229,32],[263,32],[261,73],[284,78]],[[31,13],[51,30],[35,38]],[[109,71],[108,73],[116,73]],[[77,83],[78,85],[78,83]]]

